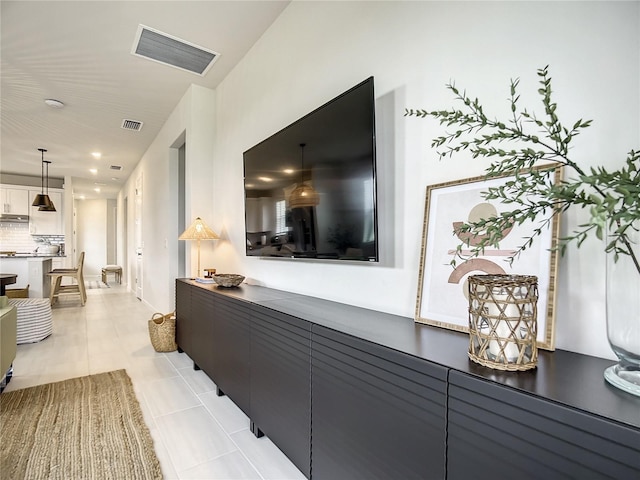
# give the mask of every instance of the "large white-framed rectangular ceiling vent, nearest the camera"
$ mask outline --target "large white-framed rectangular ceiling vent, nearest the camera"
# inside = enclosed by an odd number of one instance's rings
[[[138,25],[131,53],[203,77],[220,56],[213,50],[144,25]]]

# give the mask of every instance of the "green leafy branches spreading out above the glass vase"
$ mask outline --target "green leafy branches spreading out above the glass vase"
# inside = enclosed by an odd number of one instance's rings
[[[520,109],[518,101],[519,79],[510,84],[509,105],[511,117],[506,121],[488,117],[477,98],[472,99],[464,90],[450,82],[446,85],[463,107],[450,110],[427,111],[406,109],[405,116],[433,117],[441,125],[455,127],[432,140],[440,159],[453,157],[463,151],[473,158],[490,161],[485,178],[510,176],[504,185],[490,187],[481,196],[487,201],[497,200],[510,205],[512,210],[497,217],[464,223],[456,230],[466,238],[479,239],[476,245],[458,245],[451,262],[467,260],[483,254],[487,247],[497,247],[503,232],[515,225],[531,221],[537,226],[524,238],[507,261],[529,248],[534,239],[551,224],[553,217],[572,206],[589,210],[589,221],[578,225],[571,234],[558,239],[557,249],[564,254],[567,246],[576,242],[580,247],[590,234],[604,239],[608,227],[605,252],[613,253],[617,261],[620,255],[631,257],[638,274],[640,263],[629,241],[630,229],[638,229],[640,220],[640,151],[631,150],[624,165],[615,171],[604,167],[591,167],[585,171],[569,157],[571,142],[591,125],[591,120],[579,119],[566,127],[556,114],[557,104],[552,99],[551,77],[548,66],[539,69],[538,94],[544,107],[544,116]],[[541,168],[534,168],[540,167]],[[550,170],[562,167],[575,177],[553,181]],[[463,246],[470,247],[464,256]]]

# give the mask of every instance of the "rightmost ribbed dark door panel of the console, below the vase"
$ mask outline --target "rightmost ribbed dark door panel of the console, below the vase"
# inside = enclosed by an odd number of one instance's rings
[[[637,430],[458,372],[447,445],[454,480],[640,478]]]

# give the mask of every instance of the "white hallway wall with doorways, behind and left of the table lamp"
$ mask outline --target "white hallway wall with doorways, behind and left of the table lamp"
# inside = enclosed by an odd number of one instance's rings
[[[118,195],[118,219],[127,218],[128,258],[119,261],[128,267],[128,284],[135,288],[135,179],[142,175],[142,237],[143,237],[143,300],[159,312],[174,307],[174,286],[178,271],[177,175],[175,172],[176,141],[186,141],[186,219],[191,223],[200,216],[211,228],[219,231],[212,216],[212,158],[214,142],[214,92],[192,86],[176,106],[160,134],[131,173],[125,188]],[[186,136],[184,135],[186,132]],[[124,212],[127,198],[128,212]],[[121,226],[121,231],[123,231]],[[122,242],[123,240],[121,240]],[[193,243],[193,244],[192,244]],[[209,263],[213,245],[201,246],[202,268]],[[195,242],[187,246],[188,261],[195,275],[197,250]],[[122,264],[122,263],[121,263]]]

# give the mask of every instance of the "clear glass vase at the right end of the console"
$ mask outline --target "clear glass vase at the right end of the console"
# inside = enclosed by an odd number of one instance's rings
[[[640,261],[640,220],[628,229],[631,249]],[[615,387],[640,396],[640,272],[629,255],[614,261],[607,254],[607,338],[619,362],[604,378]]]

